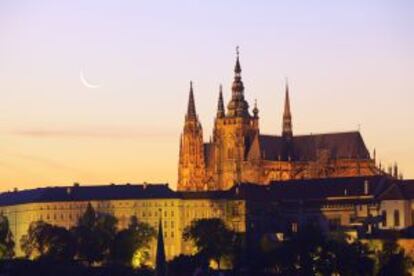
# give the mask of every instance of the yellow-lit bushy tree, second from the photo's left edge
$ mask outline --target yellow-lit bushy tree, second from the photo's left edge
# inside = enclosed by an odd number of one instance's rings
[[[71,233],[44,221],[32,222],[28,233],[22,236],[21,247],[28,258],[72,260],[75,254]]]

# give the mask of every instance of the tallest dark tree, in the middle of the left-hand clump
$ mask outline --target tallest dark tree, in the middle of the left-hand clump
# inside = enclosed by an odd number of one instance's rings
[[[88,203],[77,226],[71,229],[76,240],[78,258],[86,260],[89,264],[104,261],[109,256],[117,223],[114,216],[96,213]]]

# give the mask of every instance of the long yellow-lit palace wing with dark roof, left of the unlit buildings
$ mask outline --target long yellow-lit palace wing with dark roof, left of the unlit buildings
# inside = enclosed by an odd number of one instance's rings
[[[20,239],[33,221],[70,228],[76,225],[88,203],[97,212],[109,213],[118,219],[120,229],[128,227],[131,216],[158,229],[162,214],[163,238],[167,260],[180,253],[195,251],[182,240],[185,226],[194,219],[220,217],[230,227],[244,231],[241,199],[224,199],[208,194],[180,194],[166,184],[100,185],[47,187],[0,194],[0,212],[6,215],[16,242],[16,255],[22,256]],[[151,244],[150,265],[155,261],[156,240]]]

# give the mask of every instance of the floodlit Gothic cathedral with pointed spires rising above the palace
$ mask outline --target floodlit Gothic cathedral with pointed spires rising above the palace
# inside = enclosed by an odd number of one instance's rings
[[[239,53],[232,94],[224,107],[220,86],[212,139],[203,140],[194,92],[190,95],[180,137],[178,190],[225,190],[235,183],[269,184],[291,179],[371,176],[381,173],[358,131],[293,135],[286,84],[282,132],[261,134],[259,110],[244,98]]]

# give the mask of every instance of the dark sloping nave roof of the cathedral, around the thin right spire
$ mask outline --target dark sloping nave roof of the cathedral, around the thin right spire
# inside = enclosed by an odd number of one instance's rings
[[[260,135],[260,150],[264,160],[278,160],[284,153],[285,142],[281,136]],[[312,161],[318,151],[327,150],[332,159],[369,159],[369,152],[358,131],[311,134],[293,137],[292,159]]]

